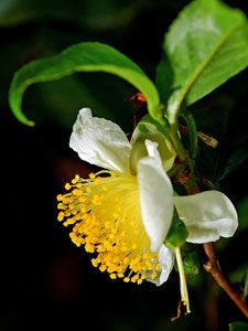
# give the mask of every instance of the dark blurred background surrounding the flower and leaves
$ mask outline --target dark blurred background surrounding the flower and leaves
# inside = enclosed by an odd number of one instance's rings
[[[173,271],[161,287],[114,281],[90,264],[56,221],[56,194],[75,173],[89,168],[69,149],[79,108],[118,122],[128,134],[136,90],[104,74],[76,74],[28,89],[23,109],[34,119],[18,122],[8,89],[23,64],[77,42],[107,43],[138,63],[151,78],[164,32],[188,1],[0,1],[1,90],[1,282],[0,330],[227,330],[244,320],[202,270],[190,279],[192,314],[171,323],[180,299]],[[226,1],[247,13],[246,1]],[[217,150],[200,146],[200,170],[219,181],[239,207],[241,229],[218,244],[225,273],[242,287],[247,268],[247,71],[192,107],[197,128],[219,140]],[[233,157],[233,161],[229,161]],[[227,167],[231,164],[231,167]],[[202,261],[204,255],[198,247]]]

